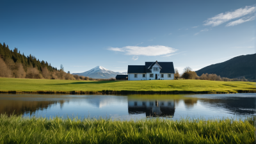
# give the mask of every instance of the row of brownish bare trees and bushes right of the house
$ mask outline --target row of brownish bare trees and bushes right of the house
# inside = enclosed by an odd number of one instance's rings
[[[202,74],[201,76],[197,76],[196,72],[193,71],[190,67],[184,68],[183,74],[180,76],[179,71],[175,69],[174,74],[175,79],[200,79],[200,80],[209,80],[209,81],[248,81],[244,77],[242,78],[234,78],[228,79],[227,77],[217,76],[216,74]]]

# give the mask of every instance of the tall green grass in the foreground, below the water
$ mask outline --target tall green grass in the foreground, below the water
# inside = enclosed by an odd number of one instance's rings
[[[0,116],[0,143],[254,143],[253,119],[22,118]]]

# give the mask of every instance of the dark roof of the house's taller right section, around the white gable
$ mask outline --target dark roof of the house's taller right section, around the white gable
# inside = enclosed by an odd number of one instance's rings
[[[148,67],[150,67],[150,65],[152,65],[152,63],[156,63],[156,61],[152,61],[152,62],[145,62],[145,71],[146,72],[150,72],[150,70],[148,69]],[[173,67],[173,62],[158,62],[157,63],[159,65],[161,65],[161,70],[160,73],[175,73],[174,72],[174,67]]]

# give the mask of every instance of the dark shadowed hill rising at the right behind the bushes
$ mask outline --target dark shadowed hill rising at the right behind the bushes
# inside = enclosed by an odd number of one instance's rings
[[[248,80],[253,80],[256,74],[256,54],[237,56],[223,63],[209,65],[196,71],[198,76],[205,73],[217,74],[230,79],[245,77]]]

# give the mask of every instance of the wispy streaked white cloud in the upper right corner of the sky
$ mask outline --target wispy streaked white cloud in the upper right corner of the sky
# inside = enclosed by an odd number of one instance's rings
[[[220,24],[223,24],[224,22],[227,22],[229,20],[243,17],[244,15],[253,13],[253,12],[255,12],[255,10],[256,10],[255,6],[245,6],[244,8],[239,8],[237,10],[234,10],[233,12],[220,13],[218,15],[215,15],[212,18],[205,20],[204,25],[205,26],[219,26]]]

